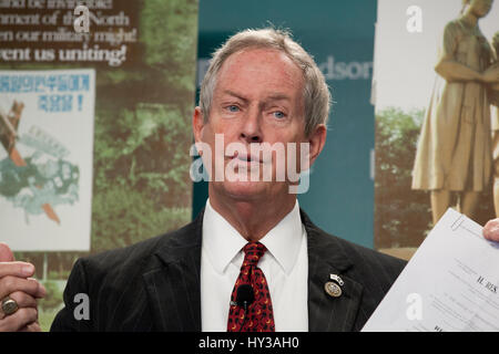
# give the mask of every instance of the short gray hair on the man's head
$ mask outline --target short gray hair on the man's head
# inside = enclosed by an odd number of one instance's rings
[[[318,124],[327,123],[332,97],[322,71],[310,54],[292,39],[289,32],[272,28],[238,32],[213,53],[200,92],[200,107],[205,122],[210,116],[216,77],[222,64],[230,55],[249,48],[282,51],[302,69],[305,82],[305,134],[307,136]]]

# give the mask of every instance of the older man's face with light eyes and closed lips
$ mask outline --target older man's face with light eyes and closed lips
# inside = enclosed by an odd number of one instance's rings
[[[282,52],[248,49],[232,54],[224,62],[218,72],[207,122],[201,123],[200,108],[196,108],[194,117],[196,142],[211,147],[212,157],[206,158],[203,154],[203,159],[205,166],[210,166],[211,187],[215,191],[241,199],[288,194],[291,183],[276,180],[276,168],[284,165],[287,169],[287,155],[295,154],[297,170],[301,169],[299,143],[308,143],[305,136],[303,88],[302,70]],[[215,134],[218,138],[223,136],[222,150],[215,148]],[[284,146],[285,154],[273,152],[271,159],[266,159],[264,154],[251,156],[252,147],[262,147],[265,143]],[[296,144],[296,150],[289,153],[287,143]],[[227,149],[231,145],[244,146],[247,153],[238,148]],[[222,166],[225,171],[246,175],[247,180],[230,180],[225,175],[223,180],[216,181],[216,160],[220,163],[218,168]],[[256,180],[251,176],[255,167],[259,170]],[[271,180],[264,179],[264,168],[272,169]],[[248,173],[245,174],[245,170]]]

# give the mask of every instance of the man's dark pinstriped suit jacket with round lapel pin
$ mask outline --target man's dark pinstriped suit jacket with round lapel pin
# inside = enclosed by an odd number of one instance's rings
[[[405,261],[330,236],[301,215],[308,238],[309,331],[359,331]],[[201,331],[202,223],[203,212],[176,231],[79,259],[51,331]],[[324,290],[330,273],[344,280],[339,298]],[[74,317],[78,293],[89,295],[90,320]]]

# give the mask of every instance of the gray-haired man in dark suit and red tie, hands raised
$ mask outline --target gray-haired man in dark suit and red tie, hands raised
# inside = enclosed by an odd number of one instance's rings
[[[320,154],[329,102],[319,69],[287,33],[232,37],[193,116],[211,176],[205,209],[174,232],[80,259],[51,330],[359,331],[405,262],[322,231],[291,192],[296,179],[278,178]],[[43,289],[21,266],[0,264],[0,295],[20,306],[3,330],[39,329]],[[88,316],[78,315],[82,294]]]

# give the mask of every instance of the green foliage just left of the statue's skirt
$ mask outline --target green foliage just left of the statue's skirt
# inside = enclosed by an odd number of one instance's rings
[[[429,195],[410,188],[424,113],[389,107],[376,114],[376,248],[418,247],[431,228]]]

